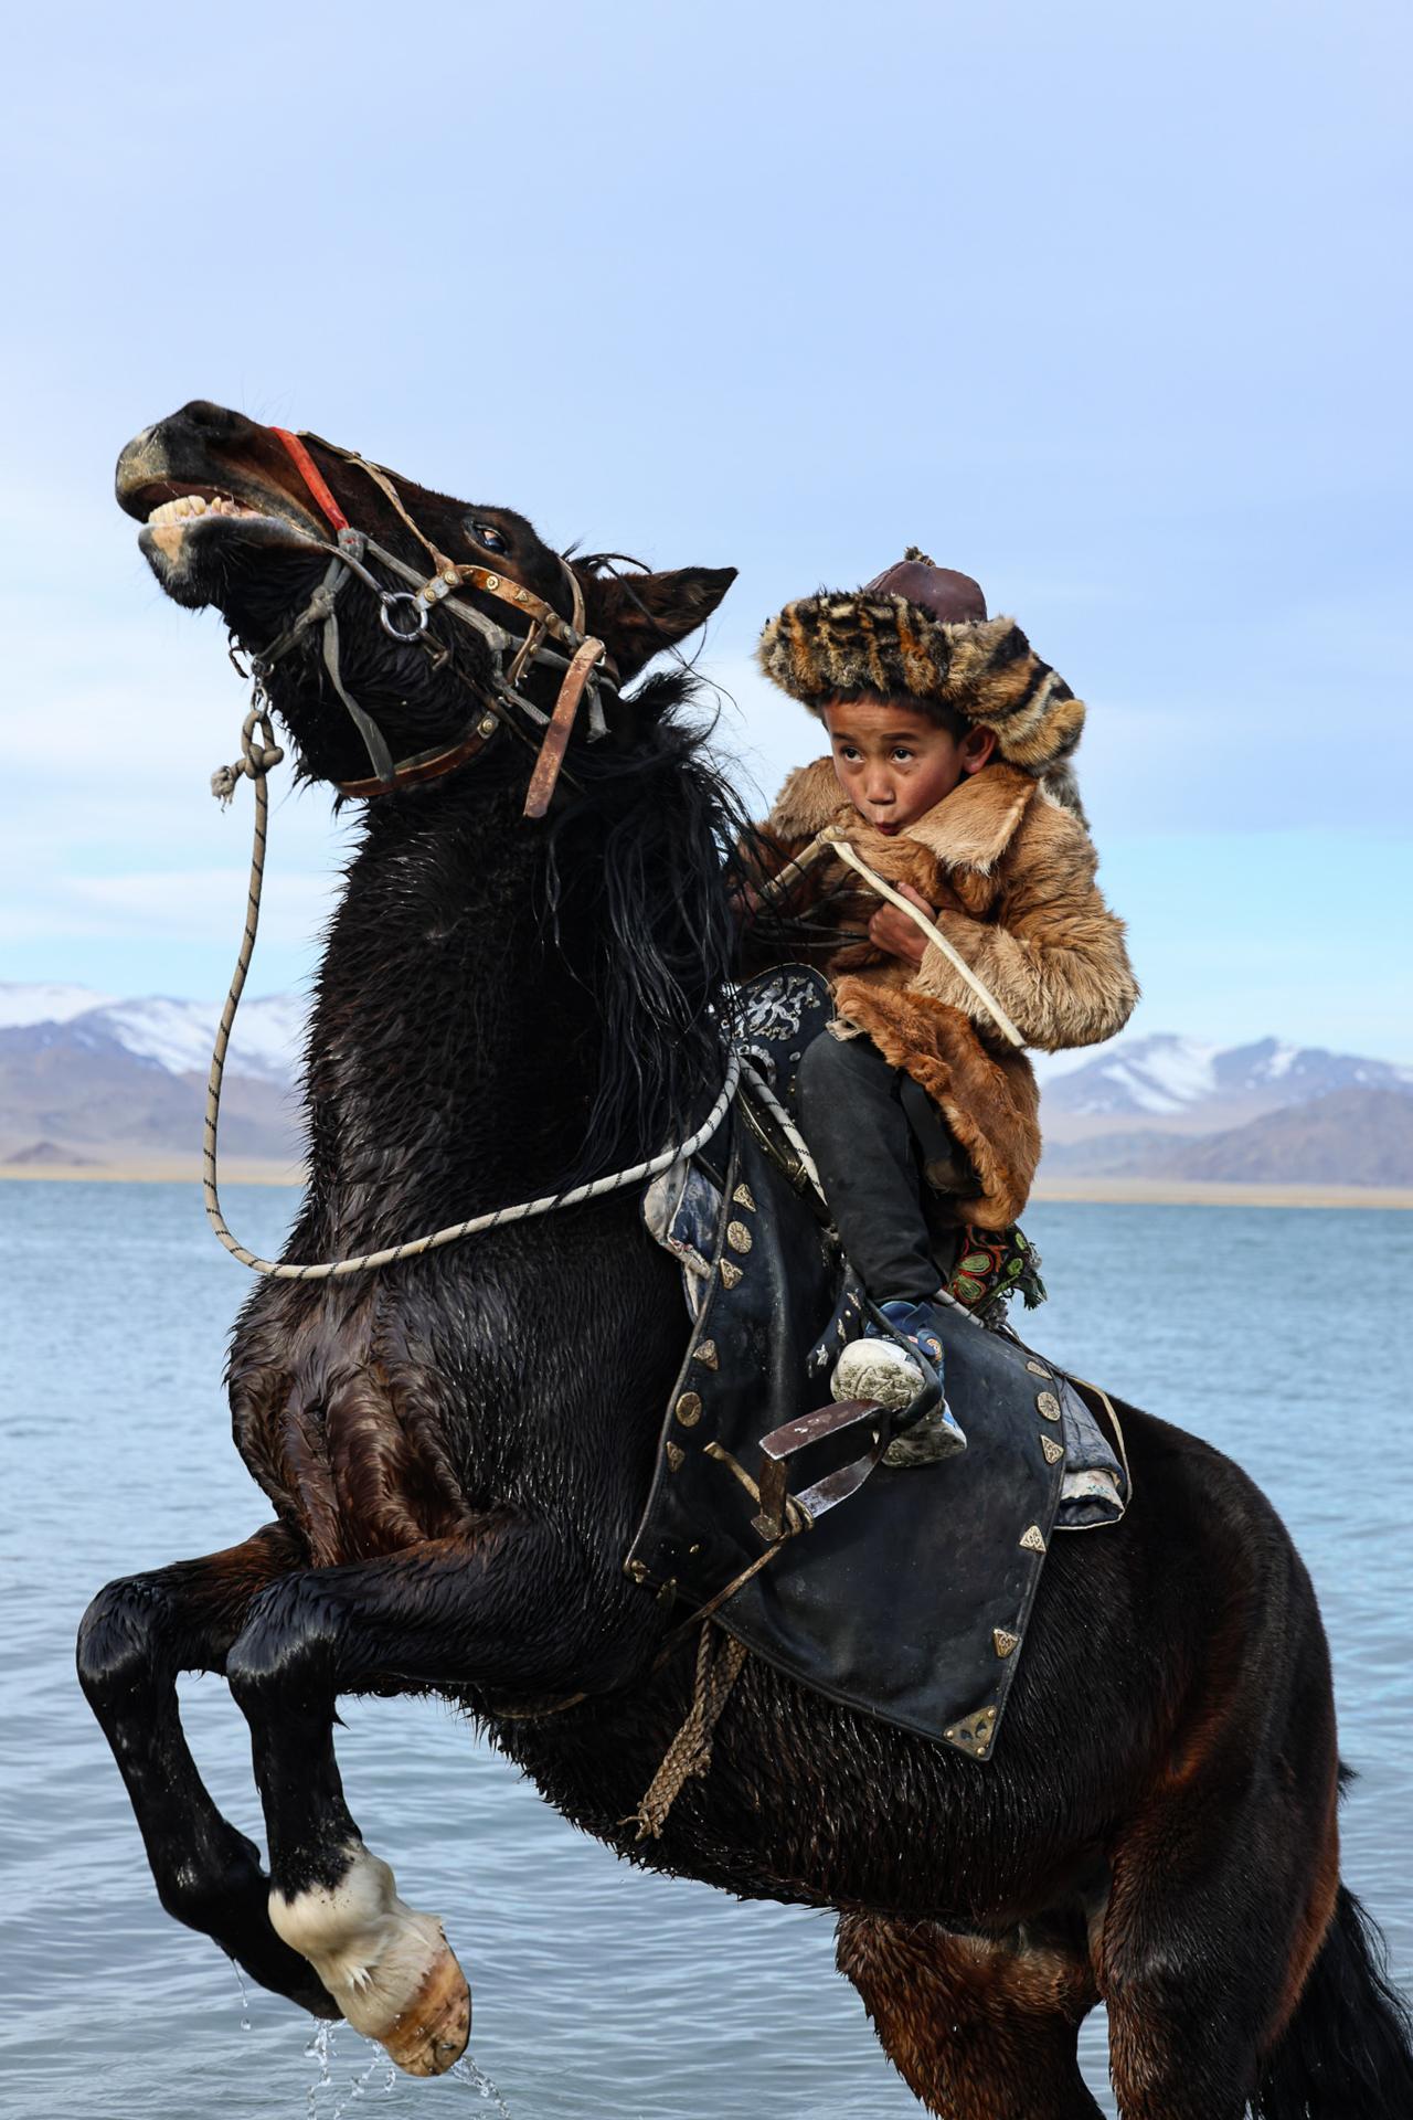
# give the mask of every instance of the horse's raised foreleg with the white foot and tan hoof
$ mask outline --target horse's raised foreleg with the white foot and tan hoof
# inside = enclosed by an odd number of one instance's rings
[[[441,1921],[398,1900],[343,1802],[337,1696],[612,1683],[623,1647],[614,1658],[602,1643],[616,1588],[589,1582],[583,1558],[547,1529],[496,1518],[468,1539],[271,1584],[231,1649],[227,1677],[250,1719],[265,1802],[271,1921],[350,2022],[415,2075],[441,2073],[462,2052],[470,1997]]]

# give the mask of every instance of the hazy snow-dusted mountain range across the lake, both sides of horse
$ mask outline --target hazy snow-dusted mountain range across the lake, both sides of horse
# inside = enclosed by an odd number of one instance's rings
[[[237,1162],[299,1160],[301,992],[242,1005],[220,1138]],[[0,984],[0,1164],[191,1162],[214,1003]],[[1413,1185],[1413,1066],[1280,1039],[1169,1032],[1038,1056],[1044,1174]]]

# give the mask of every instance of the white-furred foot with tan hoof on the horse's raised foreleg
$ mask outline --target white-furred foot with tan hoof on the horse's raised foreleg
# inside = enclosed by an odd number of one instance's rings
[[[354,2031],[409,2075],[441,2075],[466,2050],[470,1991],[441,1921],[398,1900],[392,1870],[362,1842],[347,1849],[337,1885],[292,1900],[271,1891],[269,1919]]]

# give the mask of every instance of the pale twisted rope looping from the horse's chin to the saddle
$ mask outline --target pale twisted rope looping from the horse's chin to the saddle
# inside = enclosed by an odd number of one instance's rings
[[[254,731],[261,731],[263,742],[254,742]],[[398,1259],[415,1259],[424,1251],[436,1251],[443,1244],[455,1244],[466,1236],[481,1236],[485,1230],[500,1230],[504,1223],[530,1221],[534,1215],[551,1215],[561,1206],[580,1206],[585,1200],[600,1200],[604,1194],[621,1191],[625,1185],[638,1185],[644,1179],[657,1177],[661,1170],[669,1170],[672,1164],[680,1162],[684,1155],[695,1155],[695,1151],[710,1141],[720,1126],[727,1105],[735,1096],[737,1083],[741,1079],[741,1056],[735,1045],[727,1047],[727,1079],[722,1081],[720,1094],[712,1109],[708,1111],[701,1126],[688,1134],[686,1141],[672,1149],[661,1149],[657,1155],[648,1155],[644,1162],[633,1164],[629,1170],[614,1170],[608,1177],[591,1179],[587,1185],[574,1185],[564,1194],[542,1194],[538,1200],[521,1200],[517,1206],[498,1206],[489,1215],[472,1215],[468,1221],[453,1221],[445,1230],[434,1230],[430,1236],[409,1238],[405,1244],[388,1244],[383,1251],[362,1251],[354,1259],[322,1259],[316,1266],[286,1266],[278,1259],[261,1259],[254,1251],[248,1251],[227,1227],[227,1219],[220,1213],[220,1194],[216,1189],[216,1126],[220,1119],[220,1079],[227,1064],[227,1045],[231,1043],[231,1026],[235,1022],[235,1011],[239,1007],[239,996],[246,986],[246,973],[250,971],[250,958],[254,956],[254,937],[261,922],[261,888],[265,880],[265,835],[269,818],[269,791],[265,778],[273,765],[280,763],[284,750],[273,738],[269,723],[269,710],[261,706],[261,695],[256,693],[256,704],[246,714],[242,727],[242,755],[233,765],[222,765],[212,774],[212,795],[229,803],[231,795],[239,787],[242,776],[254,782],[254,837],[250,848],[250,888],[246,893],[246,926],[242,933],[239,952],[235,958],[235,971],[231,975],[231,990],[227,994],[225,1009],[220,1011],[220,1024],[216,1028],[216,1045],[212,1049],[212,1068],[205,1081],[205,1124],[201,1138],[201,1191],[205,1198],[205,1217],[227,1247],[233,1259],[248,1266],[254,1274],[267,1274],[271,1280],[335,1280],[343,1274],[364,1274],[377,1266],[396,1266]]]

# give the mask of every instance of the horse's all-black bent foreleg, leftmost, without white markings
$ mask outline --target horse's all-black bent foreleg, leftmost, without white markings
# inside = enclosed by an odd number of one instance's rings
[[[176,1698],[178,1673],[222,1671],[252,1598],[303,1560],[299,1541],[267,1524],[227,1552],[108,1584],[78,1628],[78,1681],[112,1745],[165,1910],[212,1936],[261,1986],[337,2016],[307,1959],[271,1929],[261,1851],[212,1802]]]

